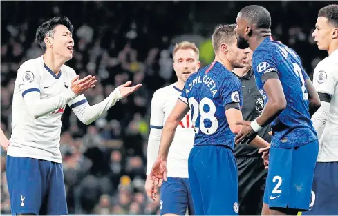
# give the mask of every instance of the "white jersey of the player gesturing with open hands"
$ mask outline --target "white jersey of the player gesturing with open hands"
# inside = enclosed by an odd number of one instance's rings
[[[12,101],[12,135],[8,155],[62,162],[59,141],[61,117],[65,106],[86,103],[84,95],[77,97],[70,90],[71,81],[75,76],[75,71],[65,65],[62,66],[61,72],[55,75],[44,64],[42,56],[28,60],[20,66]],[[46,113],[39,114],[40,116],[32,115],[32,109],[29,110],[32,104],[28,101],[32,96],[30,94],[39,94],[41,100],[53,97],[53,100],[47,103],[48,106],[35,107],[33,110],[41,109]],[[55,97],[56,95],[65,96]],[[48,107],[55,107],[55,110],[48,110]]]

